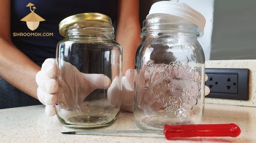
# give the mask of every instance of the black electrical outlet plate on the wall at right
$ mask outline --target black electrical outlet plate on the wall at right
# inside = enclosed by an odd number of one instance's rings
[[[209,98],[249,99],[249,69],[205,69]]]

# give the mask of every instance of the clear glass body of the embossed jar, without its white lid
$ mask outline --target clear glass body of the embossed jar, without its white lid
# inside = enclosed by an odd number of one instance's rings
[[[143,22],[136,52],[134,116],[140,129],[199,124],[204,110],[204,53],[197,26],[168,17]]]

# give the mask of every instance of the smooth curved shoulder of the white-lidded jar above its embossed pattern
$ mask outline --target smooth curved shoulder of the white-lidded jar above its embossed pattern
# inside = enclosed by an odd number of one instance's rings
[[[136,52],[136,61],[149,60],[165,64],[175,61],[205,63],[202,46],[197,40],[184,43],[142,40]]]

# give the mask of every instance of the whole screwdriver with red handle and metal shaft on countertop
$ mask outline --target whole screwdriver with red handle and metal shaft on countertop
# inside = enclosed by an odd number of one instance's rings
[[[159,134],[164,133],[166,139],[172,137],[237,137],[241,133],[236,124],[199,124],[199,125],[165,125],[164,130],[135,131],[71,131],[63,134]]]

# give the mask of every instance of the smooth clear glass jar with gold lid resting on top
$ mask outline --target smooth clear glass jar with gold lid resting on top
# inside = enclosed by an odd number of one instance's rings
[[[60,22],[59,31],[66,37],[56,51],[59,121],[72,128],[112,125],[121,106],[122,53],[110,17],[73,15]]]

